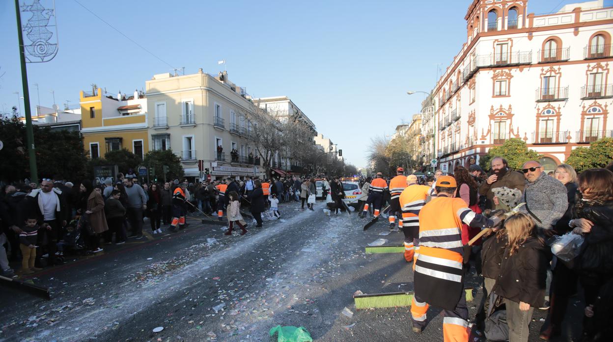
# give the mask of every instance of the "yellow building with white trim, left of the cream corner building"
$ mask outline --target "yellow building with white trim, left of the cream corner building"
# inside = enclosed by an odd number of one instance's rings
[[[102,88],[81,91],[81,133],[89,158],[104,157],[109,151],[128,149],[140,158],[149,150],[147,98],[135,91],[126,96]],[[120,170],[126,172],[128,170]]]

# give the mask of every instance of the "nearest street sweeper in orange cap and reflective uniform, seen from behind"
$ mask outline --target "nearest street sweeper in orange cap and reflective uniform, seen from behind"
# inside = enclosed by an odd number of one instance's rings
[[[413,186],[413,185],[412,185]],[[411,303],[413,332],[425,326],[428,305],[443,308],[443,338],[446,342],[468,341],[468,308],[462,269],[462,222],[489,228],[501,219],[475,214],[466,202],[455,197],[454,177],[436,180],[436,198],[419,212],[419,256],[415,263],[415,295]]]

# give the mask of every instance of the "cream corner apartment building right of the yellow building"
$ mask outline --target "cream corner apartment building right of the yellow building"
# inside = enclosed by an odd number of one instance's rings
[[[191,75],[154,75],[145,82],[150,148],[172,149],[181,158],[185,176],[199,180],[209,169],[213,179],[264,176],[253,132],[253,113],[245,88],[200,69]],[[201,169],[199,168],[202,165]]]

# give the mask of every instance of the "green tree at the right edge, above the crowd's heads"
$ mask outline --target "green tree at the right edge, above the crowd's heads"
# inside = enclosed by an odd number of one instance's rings
[[[590,147],[577,147],[566,159],[577,173],[585,169],[604,168],[613,160],[613,138],[602,138],[590,143]]]

